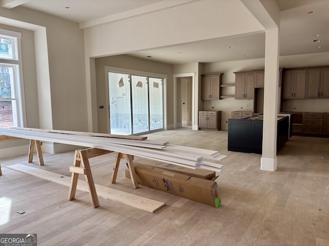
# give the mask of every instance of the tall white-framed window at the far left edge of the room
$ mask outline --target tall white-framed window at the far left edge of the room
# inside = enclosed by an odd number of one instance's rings
[[[21,33],[0,29],[0,127],[23,127]]]

